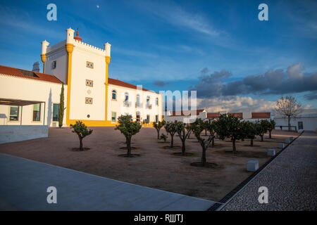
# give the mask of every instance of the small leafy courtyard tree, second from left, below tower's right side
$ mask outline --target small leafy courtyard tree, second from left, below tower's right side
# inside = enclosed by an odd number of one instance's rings
[[[131,157],[131,139],[132,136],[137,134],[141,129],[142,124],[136,121],[132,121],[132,115],[120,115],[118,117],[118,125],[115,129],[118,129],[121,134],[125,136],[125,142],[127,143],[127,157]]]

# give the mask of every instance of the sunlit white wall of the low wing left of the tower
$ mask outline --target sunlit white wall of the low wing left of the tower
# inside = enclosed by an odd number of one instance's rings
[[[25,101],[43,101],[41,105],[41,119],[40,121],[32,121],[33,105],[25,105],[22,110],[22,124],[23,125],[53,125],[53,103],[59,103],[59,95],[61,94],[61,84],[52,82],[43,82],[35,79],[27,79],[20,77],[13,77],[8,75],[0,75],[0,98],[19,99]],[[64,106],[67,101],[67,85],[64,85]],[[0,105],[0,124],[1,125],[20,125],[21,107],[19,109],[18,122],[9,121],[9,105]],[[45,117],[44,117],[45,115]],[[6,117],[6,118],[3,118]],[[43,123],[44,120],[44,123]],[[66,126],[66,110],[64,113],[64,126]]]

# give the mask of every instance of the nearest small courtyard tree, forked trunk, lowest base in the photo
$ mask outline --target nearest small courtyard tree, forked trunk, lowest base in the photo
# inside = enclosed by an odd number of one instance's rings
[[[204,131],[206,124],[204,120],[197,119],[195,122],[190,124],[190,129],[192,133],[196,137],[197,141],[200,143],[202,148],[201,154],[201,165],[204,167],[206,165],[206,149],[211,145],[211,141],[213,140],[212,136],[209,136],[208,139],[203,139],[201,137],[201,132]]]

